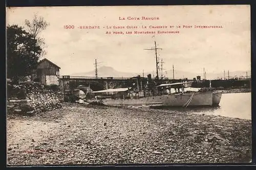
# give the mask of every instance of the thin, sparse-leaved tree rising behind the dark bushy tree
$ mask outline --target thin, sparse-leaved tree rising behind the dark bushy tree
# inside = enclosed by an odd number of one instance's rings
[[[43,57],[46,55],[45,48],[45,40],[44,38],[39,37],[39,33],[42,30],[47,29],[47,27],[50,25],[49,22],[47,22],[43,17],[37,16],[37,14],[34,14],[34,18],[32,21],[29,21],[28,19],[25,20],[25,25],[28,28],[28,32],[32,35],[34,39],[37,39],[37,44],[40,45],[43,49],[39,57]]]

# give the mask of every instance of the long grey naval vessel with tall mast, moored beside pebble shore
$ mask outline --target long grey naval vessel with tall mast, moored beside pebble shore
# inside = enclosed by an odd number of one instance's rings
[[[100,102],[104,105],[113,106],[169,106],[169,107],[190,107],[190,106],[218,106],[221,100],[222,91],[214,91],[211,88],[192,88],[192,82],[178,82],[163,84],[158,78],[157,48],[145,49],[156,52],[157,76],[153,80],[147,75],[147,83],[139,87],[137,85],[126,88],[112,88],[99,91],[91,91],[96,95],[95,99],[88,99],[88,102]]]

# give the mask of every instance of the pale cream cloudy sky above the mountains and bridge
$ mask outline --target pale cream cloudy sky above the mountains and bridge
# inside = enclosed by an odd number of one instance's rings
[[[158,57],[163,59],[165,69],[172,69],[173,65],[189,72],[202,72],[203,68],[207,72],[251,68],[249,5],[13,7],[6,10],[7,25],[25,26],[25,19],[32,20],[34,14],[50,23],[39,36],[45,39],[45,58],[61,68],[60,75],[92,71],[95,59],[99,66],[111,66],[122,72],[156,70],[155,51],[144,50],[154,47],[154,41],[162,48],[158,50]],[[142,20],[142,16],[155,20]],[[139,20],[129,20],[132,17]],[[65,29],[66,25],[74,29]],[[201,29],[194,28],[195,25],[222,28]],[[79,26],[99,26],[100,29],[79,29]],[[125,29],[113,29],[114,26]],[[127,26],[137,29],[127,29]],[[106,34],[107,31],[112,34]],[[113,34],[113,31],[124,34]],[[134,34],[134,31],[156,33]],[[158,34],[158,31],[179,33]]]

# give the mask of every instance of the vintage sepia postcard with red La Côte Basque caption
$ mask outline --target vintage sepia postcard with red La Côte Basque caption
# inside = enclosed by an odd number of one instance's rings
[[[7,164],[250,163],[249,5],[9,7]]]

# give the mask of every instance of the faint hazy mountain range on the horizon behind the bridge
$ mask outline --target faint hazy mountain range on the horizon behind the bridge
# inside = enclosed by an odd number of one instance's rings
[[[142,76],[142,72],[121,72],[109,66],[101,66],[98,68],[97,72],[98,72],[98,77],[131,78],[138,75]],[[151,74],[152,77],[156,76],[156,72],[155,73],[144,72],[144,77],[146,77],[146,75],[148,74]],[[173,70],[166,70],[164,71],[163,75],[168,78],[173,78]],[[250,71],[248,71],[248,77],[250,77],[250,75],[251,75]],[[71,74],[70,76],[95,77],[95,70],[92,70],[89,72],[77,72],[77,73]],[[161,76],[161,71],[159,71],[159,76]],[[193,78],[196,78],[197,76],[201,76],[201,79],[203,78],[202,73],[188,72],[188,71],[182,71],[182,70],[175,70],[174,76],[175,76],[175,79],[182,79],[182,78],[193,79]],[[230,71],[229,72],[229,78],[233,78],[235,76],[237,76],[238,78],[240,76],[246,77],[246,71],[232,71],[232,72]],[[224,72],[217,72],[217,73],[206,72],[206,79],[218,79],[223,77],[224,77]],[[228,78],[227,71],[225,72],[225,77]]]

